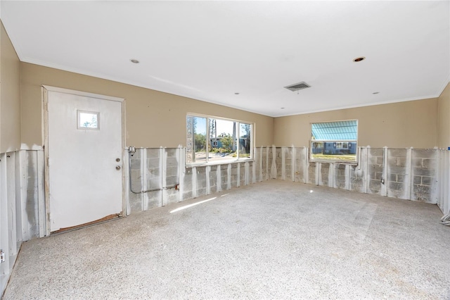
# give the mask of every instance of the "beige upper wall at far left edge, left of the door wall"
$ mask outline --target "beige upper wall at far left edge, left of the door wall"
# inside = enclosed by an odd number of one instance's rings
[[[20,61],[0,24],[0,153],[20,149]]]

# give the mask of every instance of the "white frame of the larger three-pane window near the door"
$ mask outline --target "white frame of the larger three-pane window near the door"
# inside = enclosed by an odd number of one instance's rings
[[[200,162],[191,162],[188,163],[187,160],[187,147],[188,147],[188,132],[187,132],[187,125],[188,125],[188,117],[196,117],[196,118],[205,118],[206,119],[206,141],[211,139],[210,137],[210,119],[215,120],[224,120],[224,121],[230,121],[233,123],[236,123],[236,139],[237,139],[237,146],[236,146],[236,157],[230,158],[230,159],[224,159],[224,160],[218,160],[218,161],[209,161],[210,156],[210,149],[209,146],[206,147],[206,161],[200,161]],[[240,147],[239,147],[239,141],[240,141],[240,124],[246,124],[250,125],[250,157],[240,157]],[[200,113],[186,113],[186,151],[185,151],[185,166],[186,168],[192,168],[192,167],[198,167],[203,165],[223,165],[223,164],[229,164],[229,163],[238,163],[238,162],[245,162],[245,161],[253,161],[254,159],[254,152],[255,152],[255,123],[245,120],[237,120],[237,119],[231,119],[231,118],[224,118],[224,117],[217,117],[214,115],[203,115]],[[193,132],[193,136],[195,137],[195,132]]]

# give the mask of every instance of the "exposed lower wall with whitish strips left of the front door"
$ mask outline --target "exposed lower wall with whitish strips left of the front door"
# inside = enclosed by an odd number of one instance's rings
[[[22,242],[46,234],[44,151],[0,154],[0,295]]]

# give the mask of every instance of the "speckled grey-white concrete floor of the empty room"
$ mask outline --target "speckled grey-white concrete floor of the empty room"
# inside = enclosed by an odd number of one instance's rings
[[[25,242],[4,299],[450,299],[441,216],[271,180]]]

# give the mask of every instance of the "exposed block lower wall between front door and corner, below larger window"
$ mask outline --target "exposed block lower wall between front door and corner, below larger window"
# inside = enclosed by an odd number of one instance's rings
[[[259,151],[255,151],[259,157]],[[271,152],[272,153],[272,152]],[[261,162],[185,167],[184,148],[136,149],[129,156],[129,213],[261,181]],[[259,166],[259,167],[257,167]],[[176,189],[178,187],[179,189]]]

